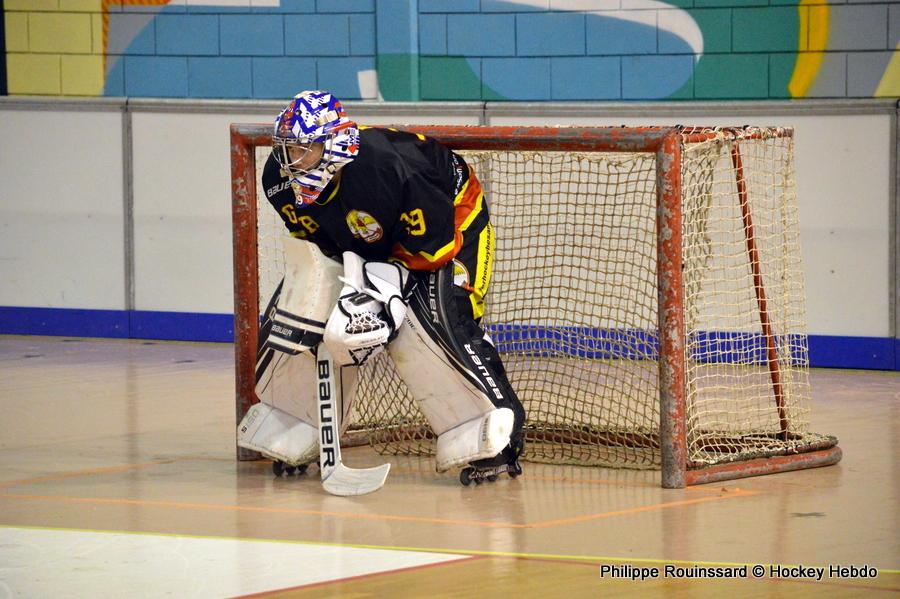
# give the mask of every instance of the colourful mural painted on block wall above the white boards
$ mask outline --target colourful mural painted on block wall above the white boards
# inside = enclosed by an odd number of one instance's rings
[[[5,0],[10,95],[900,96],[900,0]]]

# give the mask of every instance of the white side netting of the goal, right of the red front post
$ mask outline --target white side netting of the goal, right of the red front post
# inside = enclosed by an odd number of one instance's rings
[[[720,136],[688,146],[684,164],[689,461],[711,464],[815,443],[821,438],[809,433],[793,137]],[[766,319],[777,354],[771,365]]]

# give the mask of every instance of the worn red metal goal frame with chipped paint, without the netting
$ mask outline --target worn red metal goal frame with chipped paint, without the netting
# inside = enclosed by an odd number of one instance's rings
[[[841,459],[836,440],[807,448],[802,453],[778,455],[692,468],[687,460],[685,431],[685,332],[682,281],[682,148],[721,135],[723,129],[682,127],[487,127],[399,126],[432,137],[458,150],[517,150],[645,152],[656,155],[657,284],[660,335],[659,405],[662,486],[682,488],[748,476],[827,466]],[[724,130],[726,133],[736,130]],[[789,128],[777,134],[793,135]],[[749,134],[752,136],[752,133]],[[742,139],[748,133],[742,132]],[[254,391],[258,332],[257,287],[257,175],[255,148],[271,145],[271,127],[262,124],[231,125],[232,216],[234,225],[234,298],[236,418],[243,418],[258,401]],[[734,143],[732,162],[738,176],[744,233],[756,289],[760,326],[766,339],[769,374],[781,430],[787,435],[780,373],[774,335],[769,325],[764,281],[758,269],[753,220],[743,187],[740,145]],[[258,454],[238,448],[238,459]]]

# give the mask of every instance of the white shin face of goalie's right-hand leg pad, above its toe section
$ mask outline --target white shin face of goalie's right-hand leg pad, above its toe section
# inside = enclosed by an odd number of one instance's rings
[[[495,406],[484,392],[460,372],[428,334],[414,311],[388,348],[403,382],[437,435],[480,418]]]

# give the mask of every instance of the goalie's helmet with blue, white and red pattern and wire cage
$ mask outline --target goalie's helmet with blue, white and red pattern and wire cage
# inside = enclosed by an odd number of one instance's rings
[[[290,149],[318,149],[312,144],[322,144],[322,157],[312,166],[305,156],[297,158]],[[359,152],[359,129],[347,118],[340,101],[325,91],[300,92],[287,108],[275,119],[272,136],[275,158],[290,179],[297,204],[312,204],[342,166],[353,160]]]

